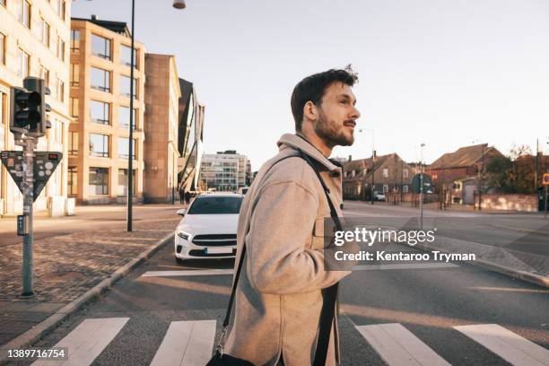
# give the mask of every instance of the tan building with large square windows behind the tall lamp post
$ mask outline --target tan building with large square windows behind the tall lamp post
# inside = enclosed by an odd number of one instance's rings
[[[130,96],[134,95],[134,194],[144,198],[144,45],[135,42],[130,91],[131,35],[124,22],[73,18],[70,39],[68,196],[77,204],[126,202]]]

